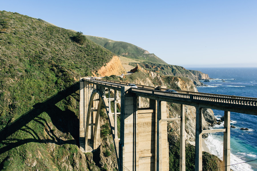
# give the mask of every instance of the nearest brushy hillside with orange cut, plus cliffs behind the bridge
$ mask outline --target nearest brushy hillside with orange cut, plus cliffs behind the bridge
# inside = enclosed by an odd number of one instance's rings
[[[79,150],[78,81],[84,76],[121,79],[114,75],[125,69],[117,54],[81,34],[41,19],[0,11],[0,170],[117,170],[104,110],[100,148],[94,153]],[[144,67],[122,79],[196,91],[190,79],[163,78]],[[142,99],[142,106],[147,103]],[[179,105],[168,103],[167,107],[170,116],[180,115]],[[186,110],[186,138],[193,141],[194,110]],[[204,112],[206,116],[214,119],[211,112]],[[202,120],[207,129],[211,123]],[[170,170],[177,170],[179,124],[168,125]],[[186,152],[186,167],[194,170],[194,147],[188,144]],[[204,152],[203,164],[204,169],[216,168],[220,161]]]

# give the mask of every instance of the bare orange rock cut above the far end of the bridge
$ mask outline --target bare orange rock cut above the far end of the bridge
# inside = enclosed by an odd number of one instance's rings
[[[98,70],[98,74],[100,76],[111,76],[111,75],[121,75],[127,73],[118,56],[113,56],[113,59],[106,64],[106,66],[102,66],[100,70]]]

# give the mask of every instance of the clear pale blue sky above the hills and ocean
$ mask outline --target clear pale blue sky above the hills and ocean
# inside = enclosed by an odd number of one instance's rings
[[[256,0],[1,0],[0,10],[129,42],[168,64],[257,67]]]

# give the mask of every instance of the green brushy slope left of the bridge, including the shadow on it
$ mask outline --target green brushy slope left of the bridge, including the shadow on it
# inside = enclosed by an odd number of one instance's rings
[[[75,78],[113,53],[18,13],[0,11],[0,21],[0,170],[84,170]]]

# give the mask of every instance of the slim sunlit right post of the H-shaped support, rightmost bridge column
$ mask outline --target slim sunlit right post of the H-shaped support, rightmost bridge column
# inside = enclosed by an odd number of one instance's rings
[[[224,129],[226,129],[226,132],[224,132],[223,136],[223,166],[224,171],[230,171],[230,112],[225,111],[224,112]]]

